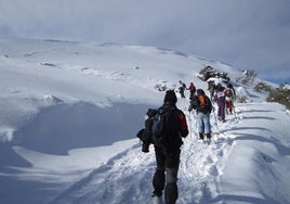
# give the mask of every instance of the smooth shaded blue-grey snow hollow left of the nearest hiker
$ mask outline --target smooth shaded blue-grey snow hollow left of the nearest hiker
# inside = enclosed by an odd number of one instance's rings
[[[54,155],[65,155],[74,149],[109,145],[115,138],[132,139],[137,128],[131,128],[130,124],[142,126],[145,110],[127,104],[102,109],[84,102],[49,106],[14,132],[13,143]]]

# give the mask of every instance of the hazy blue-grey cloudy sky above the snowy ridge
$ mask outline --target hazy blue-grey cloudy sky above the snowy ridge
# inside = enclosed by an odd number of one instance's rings
[[[0,0],[0,37],[155,46],[290,80],[289,0]]]

